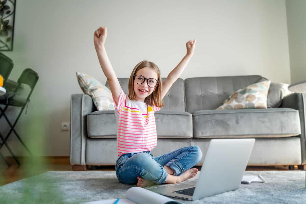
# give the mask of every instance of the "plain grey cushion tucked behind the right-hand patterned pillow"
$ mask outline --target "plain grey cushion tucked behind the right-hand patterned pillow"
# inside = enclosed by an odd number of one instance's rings
[[[267,97],[268,108],[278,108],[283,98],[293,93],[288,90],[288,86],[289,84],[286,83],[271,82]]]

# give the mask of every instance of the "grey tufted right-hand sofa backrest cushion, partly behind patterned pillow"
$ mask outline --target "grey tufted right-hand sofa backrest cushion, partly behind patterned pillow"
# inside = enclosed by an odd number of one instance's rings
[[[259,75],[187,78],[186,110],[193,113],[198,110],[216,109],[238,89],[265,80],[267,79]]]

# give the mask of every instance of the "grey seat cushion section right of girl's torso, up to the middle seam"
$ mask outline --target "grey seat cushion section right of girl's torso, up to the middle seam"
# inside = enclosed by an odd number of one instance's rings
[[[192,114],[160,110],[154,113],[157,138],[192,138]]]

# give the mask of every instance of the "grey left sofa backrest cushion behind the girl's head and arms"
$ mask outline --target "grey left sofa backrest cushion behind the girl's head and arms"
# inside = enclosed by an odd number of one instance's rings
[[[164,81],[166,78],[162,78],[162,81]],[[118,78],[118,81],[121,85],[122,90],[125,92],[125,94],[129,94],[129,78]],[[110,88],[107,81],[106,81],[106,87]],[[161,108],[161,110],[177,110],[177,111],[185,111],[185,92],[184,92],[184,80],[181,78],[178,78],[165,97],[162,99],[162,103],[164,106]]]

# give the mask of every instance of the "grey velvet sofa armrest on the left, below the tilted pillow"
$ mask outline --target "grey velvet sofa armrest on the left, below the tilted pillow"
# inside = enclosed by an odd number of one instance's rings
[[[86,115],[96,107],[89,95],[72,94],[70,101],[70,164],[86,165]]]

